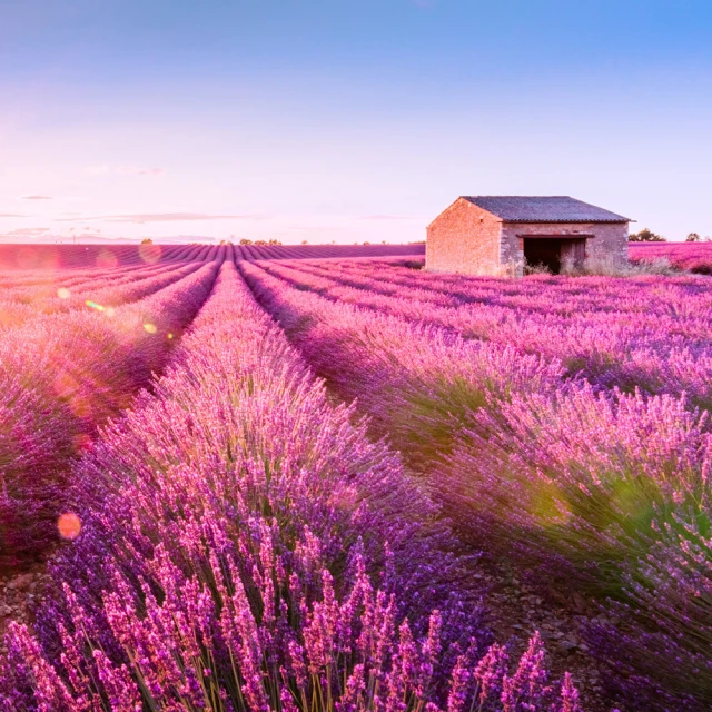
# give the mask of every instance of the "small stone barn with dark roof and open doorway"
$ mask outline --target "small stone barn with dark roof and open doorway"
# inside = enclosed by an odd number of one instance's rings
[[[463,196],[427,226],[425,268],[464,275],[552,273],[562,263],[627,260],[629,218],[568,196]]]

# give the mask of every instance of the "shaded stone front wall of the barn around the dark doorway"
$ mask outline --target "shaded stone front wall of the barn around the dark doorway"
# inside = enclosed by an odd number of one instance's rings
[[[503,265],[516,265],[515,273],[518,276],[524,266],[523,235],[592,235],[586,239],[586,258],[611,260],[615,265],[623,265],[627,260],[627,222],[503,222],[500,259]]]

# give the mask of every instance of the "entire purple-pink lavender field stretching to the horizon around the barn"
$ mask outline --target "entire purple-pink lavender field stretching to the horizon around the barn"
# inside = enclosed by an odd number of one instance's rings
[[[49,584],[0,709],[712,706],[709,277],[33,250],[0,254],[0,566]]]

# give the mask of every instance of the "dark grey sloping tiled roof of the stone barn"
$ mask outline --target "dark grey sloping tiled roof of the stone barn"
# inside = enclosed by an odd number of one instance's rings
[[[630,218],[568,196],[463,196],[506,222],[627,222]]]

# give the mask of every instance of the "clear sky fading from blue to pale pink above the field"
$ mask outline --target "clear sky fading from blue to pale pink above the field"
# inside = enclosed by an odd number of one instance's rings
[[[0,0],[0,240],[425,239],[459,195],[712,235],[710,0]]]

